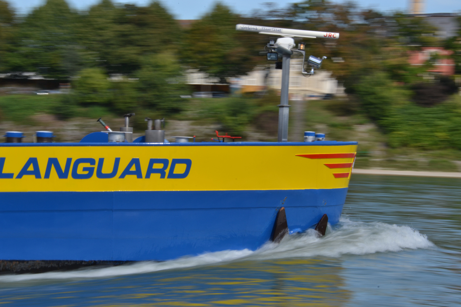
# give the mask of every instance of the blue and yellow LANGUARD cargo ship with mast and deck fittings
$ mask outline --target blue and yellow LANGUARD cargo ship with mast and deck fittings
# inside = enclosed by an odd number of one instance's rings
[[[8,132],[0,144],[0,271],[165,261],[255,250],[310,228],[324,234],[327,221],[339,221],[357,142],[311,132],[288,142],[285,83],[278,142],[216,132],[209,142],[167,143],[160,120],[153,127],[148,118],[133,140],[132,114],[118,132],[98,120],[106,131],[79,143],[53,143],[46,131],[22,143],[20,132]]]

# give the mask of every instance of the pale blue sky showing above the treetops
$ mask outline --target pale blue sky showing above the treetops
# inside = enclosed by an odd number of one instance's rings
[[[7,0],[19,14],[25,14],[33,10],[37,6],[41,6],[46,0]],[[100,2],[100,0],[66,0],[73,8],[78,10],[86,10],[90,6]],[[112,0],[118,3],[132,3],[139,6],[147,5],[151,0]],[[343,2],[344,0],[336,0],[333,2]],[[161,0],[168,11],[173,14],[176,19],[198,19],[203,14],[208,12],[216,0]],[[248,0],[221,0],[220,2],[230,6],[234,12],[250,13],[254,9],[264,8],[264,3],[271,0],[248,1]],[[275,1],[274,1],[275,2]],[[294,0],[279,0],[278,7],[284,7],[289,3],[301,2]],[[355,0],[359,6],[364,8],[372,8],[380,12],[386,11],[405,11],[408,9],[408,0]],[[461,12],[461,0],[426,0],[425,13],[454,13]]]

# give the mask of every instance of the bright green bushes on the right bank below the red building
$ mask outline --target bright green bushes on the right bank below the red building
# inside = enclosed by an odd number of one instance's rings
[[[461,150],[458,95],[431,108],[420,106],[410,101],[412,91],[382,72],[364,77],[356,93],[366,114],[387,134],[390,147]]]

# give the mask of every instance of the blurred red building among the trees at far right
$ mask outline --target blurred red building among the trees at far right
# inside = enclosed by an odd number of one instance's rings
[[[434,56],[448,57],[453,54],[451,50],[445,50],[442,47],[423,47],[420,51],[409,52],[408,62],[411,65],[423,65],[426,61],[434,58]],[[428,72],[437,73],[440,75],[454,75],[455,61],[452,58],[438,58],[433,64],[434,68]]]

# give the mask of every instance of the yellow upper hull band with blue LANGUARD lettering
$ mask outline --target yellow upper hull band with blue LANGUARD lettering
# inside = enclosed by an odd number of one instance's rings
[[[36,146],[1,147],[0,191],[226,191],[335,189],[349,185],[349,177],[335,178],[349,168],[328,168],[325,163],[352,163],[357,145],[338,146]],[[301,151],[301,152],[300,152]],[[348,157],[337,154],[348,153]],[[322,158],[322,155],[329,155]],[[317,155],[301,159],[296,155]],[[320,156],[319,156],[320,155]],[[341,156],[341,155],[339,155]],[[66,178],[59,178],[55,165]],[[110,174],[118,159],[113,178],[98,178],[97,168],[104,158],[103,174]],[[77,163],[77,159],[81,163]],[[160,160],[151,160],[160,159]],[[176,159],[176,160],[174,160]],[[3,163],[2,163],[3,161]],[[35,162],[36,161],[36,162]],[[95,161],[93,165],[88,161]],[[147,176],[149,162],[154,170]],[[173,161],[178,162],[171,170]],[[189,165],[184,161],[190,161]],[[27,163],[29,166],[27,167]],[[50,164],[51,165],[51,164]],[[131,165],[129,169],[127,166]],[[25,168],[27,167],[27,168]],[[38,169],[35,169],[38,168]],[[189,171],[188,171],[189,168]],[[185,174],[185,178],[180,178]],[[78,179],[85,175],[88,179]],[[138,175],[136,175],[138,174]],[[141,178],[139,178],[141,175]],[[61,175],[61,177],[65,175]],[[164,176],[164,178],[161,178]],[[11,178],[9,178],[11,177]],[[20,178],[19,178],[20,177]],[[146,178],[149,177],[149,178]],[[176,178],[175,178],[176,177]]]

